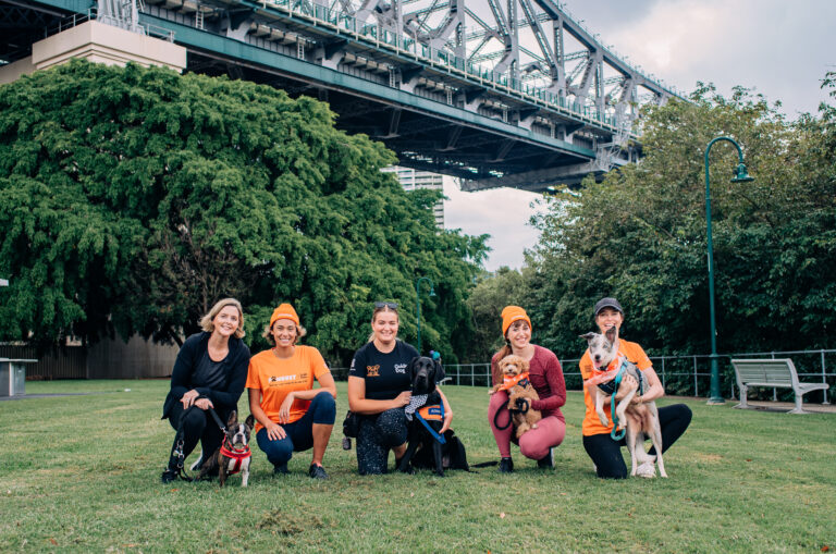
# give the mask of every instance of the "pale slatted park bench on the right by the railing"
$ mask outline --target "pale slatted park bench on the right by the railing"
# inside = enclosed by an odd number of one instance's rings
[[[829,387],[827,383],[801,383],[798,381],[796,366],[789,358],[779,359],[733,359],[732,366],[737,374],[737,386],[740,389],[740,404],[736,408],[748,408],[746,393],[750,386],[769,386],[792,389],[796,393],[796,407],[790,414],[807,414],[801,408],[802,396],[810,391],[823,391]]]

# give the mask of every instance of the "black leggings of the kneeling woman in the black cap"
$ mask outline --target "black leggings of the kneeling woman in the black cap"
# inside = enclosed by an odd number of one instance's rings
[[[662,428],[662,453],[664,454],[672,444],[688,429],[691,422],[691,408],[685,404],[674,404],[659,408],[659,424]],[[604,479],[624,479],[628,476],[627,465],[622,456],[622,446],[627,443],[625,439],[614,441],[610,433],[593,434],[583,438],[586,448],[592,463],[595,465],[598,477]],[[648,454],[655,454],[651,447]]]

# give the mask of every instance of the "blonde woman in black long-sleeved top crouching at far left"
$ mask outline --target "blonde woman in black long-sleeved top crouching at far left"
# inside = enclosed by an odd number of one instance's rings
[[[249,364],[249,348],[244,336],[244,311],[241,303],[225,298],[216,304],[200,320],[204,332],[186,338],[177,353],[171,372],[171,391],[162,407],[162,419],[169,418],[175,430],[182,428],[183,459],[197,445],[211,455],[221,445],[223,434],[212,419],[213,408],[225,423],[237,410],[238,397],[244,392]],[[189,409],[196,406],[194,409]],[[177,477],[180,458],[174,438],[169,466],[162,472],[162,482]]]

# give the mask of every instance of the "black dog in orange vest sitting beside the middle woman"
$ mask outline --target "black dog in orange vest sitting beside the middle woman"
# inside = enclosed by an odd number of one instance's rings
[[[432,444],[432,457],[435,467],[435,473],[444,477],[444,466],[442,457],[442,441],[444,438],[439,435],[439,431],[444,426],[443,404],[441,395],[435,389],[435,383],[444,379],[444,368],[441,362],[426,356],[413,359],[407,367],[413,382],[413,402],[407,406],[408,423],[408,445],[404,457],[397,467],[398,471],[414,473],[415,469],[410,465],[415,451],[423,444],[428,447]],[[425,399],[426,397],[426,399]],[[432,433],[425,427],[432,429]],[[433,436],[433,433],[435,436]]]

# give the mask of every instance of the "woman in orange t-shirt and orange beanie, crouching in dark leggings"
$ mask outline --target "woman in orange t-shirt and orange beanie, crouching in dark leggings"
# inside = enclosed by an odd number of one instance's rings
[[[274,346],[249,360],[249,410],[257,421],[258,446],[274,472],[286,473],[293,453],[312,447],[308,475],[328,479],[322,456],[334,428],[336,385],[319,350],[296,344],[304,335],[293,306],[273,310],[263,336]],[[315,379],[320,389],[314,389]]]

